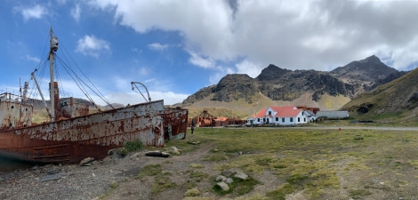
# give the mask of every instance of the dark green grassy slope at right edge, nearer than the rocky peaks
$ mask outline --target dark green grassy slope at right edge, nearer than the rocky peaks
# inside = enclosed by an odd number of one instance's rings
[[[365,92],[344,105],[351,116],[412,118],[418,114],[418,68],[388,84]]]

